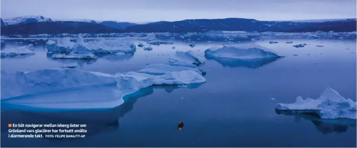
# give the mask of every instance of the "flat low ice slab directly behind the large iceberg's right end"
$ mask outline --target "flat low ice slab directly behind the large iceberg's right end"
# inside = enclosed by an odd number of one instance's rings
[[[177,72],[183,70],[192,70],[199,74],[203,74],[197,66],[188,63],[170,63],[170,64],[148,64],[138,72],[146,73],[150,75],[163,75],[167,72]]]

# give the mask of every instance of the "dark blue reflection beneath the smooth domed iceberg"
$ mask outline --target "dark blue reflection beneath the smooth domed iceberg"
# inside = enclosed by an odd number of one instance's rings
[[[280,60],[283,57],[272,58],[257,58],[257,59],[237,59],[237,58],[222,58],[222,57],[207,57],[208,60],[215,60],[224,67],[247,67],[247,68],[259,68],[266,64]]]

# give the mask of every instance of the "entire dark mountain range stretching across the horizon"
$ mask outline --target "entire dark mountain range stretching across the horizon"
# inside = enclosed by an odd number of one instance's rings
[[[99,23],[98,23],[99,22]],[[203,33],[207,31],[246,32],[355,32],[356,20],[324,22],[259,21],[245,18],[188,19],[134,24],[116,21],[51,21],[21,23],[1,28],[2,34],[78,34],[78,33]]]

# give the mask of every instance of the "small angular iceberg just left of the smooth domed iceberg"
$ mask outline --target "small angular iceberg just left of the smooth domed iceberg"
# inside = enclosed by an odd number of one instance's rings
[[[190,64],[201,64],[206,61],[204,57],[200,57],[199,55],[193,53],[191,50],[189,51],[176,51],[175,56],[170,58],[171,61],[182,61],[185,63],[190,63]]]

